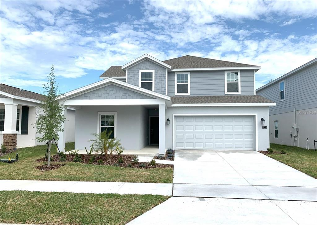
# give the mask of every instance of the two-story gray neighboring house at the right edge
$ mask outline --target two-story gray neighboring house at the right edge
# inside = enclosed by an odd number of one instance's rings
[[[276,103],[269,107],[271,143],[314,148],[317,58],[258,88],[256,94]]]

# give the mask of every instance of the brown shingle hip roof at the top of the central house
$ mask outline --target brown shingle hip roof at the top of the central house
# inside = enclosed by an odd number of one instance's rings
[[[172,66],[172,69],[254,66],[249,64],[229,62],[217,59],[208,59],[191,55],[185,55],[175,59],[168,59],[163,62]]]

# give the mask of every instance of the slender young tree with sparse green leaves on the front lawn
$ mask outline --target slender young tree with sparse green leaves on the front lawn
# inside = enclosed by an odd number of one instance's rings
[[[58,140],[58,132],[63,131],[62,123],[65,121],[64,104],[60,103],[58,98],[62,96],[58,90],[58,84],[55,81],[54,65],[48,76],[48,83],[43,84],[44,95],[41,100],[40,109],[36,111],[37,120],[35,122],[36,133],[41,134],[36,137],[38,142],[47,141],[48,147],[48,163],[51,158],[51,140]]]

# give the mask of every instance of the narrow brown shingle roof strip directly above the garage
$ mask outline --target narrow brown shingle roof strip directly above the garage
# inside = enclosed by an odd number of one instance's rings
[[[274,103],[260,95],[230,96],[175,96],[172,104],[212,104],[212,103]]]

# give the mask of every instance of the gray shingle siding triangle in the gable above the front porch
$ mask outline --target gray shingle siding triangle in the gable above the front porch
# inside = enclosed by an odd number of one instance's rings
[[[142,95],[113,84],[101,87],[94,91],[81,94],[70,99],[153,99],[150,96]]]

